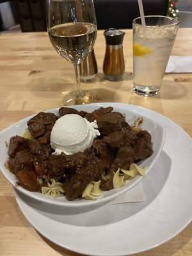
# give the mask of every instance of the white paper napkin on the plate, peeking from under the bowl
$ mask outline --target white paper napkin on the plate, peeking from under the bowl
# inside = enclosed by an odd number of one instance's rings
[[[143,193],[143,186],[140,182],[139,184],[134,186],[132,189],[130,189],[123,195],[120,195],[117,198],[108,202],[106,205],[144,202],[144,200],[145,200],[145,195]]]

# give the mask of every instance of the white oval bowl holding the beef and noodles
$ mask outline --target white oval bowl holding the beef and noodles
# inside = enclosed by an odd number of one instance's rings
[[[128,104],[118,104],[118,103],[100,103],[100,104],[89,104],[84,106],[72,106],[73,108],[76,108],[77,110],[84,110],[88,112],[92,112],[94,109],[100,108],[100,106],[107,107],[107,106],[113,106],[114,111],[119,111],[120,113],[125,113],[127,122],[131,124],[136,120],[136,118],[143,117],[143,124],[142,128],[150,132],[152,136],[152,143],[153,143],[153,150],[154,153],[151,157],[148,157],[145,159],[145,161],[142,161],[140,164],[141,167],[148,166],[146,175],[152,170],[152,167],[154,166],[154,163],[157,160],[157,157],[159,157],[159,154],[163,148],[164,140],[165,140],[165,129],[162,125],[159,124],[159,122],[154,119],[151,111],[148,111],[147,109],[143,109],[140,107],[136,107],[133,105]],[[49,112],[58,114],[58,109],[50,109]],[[31,118],[29,116],[28,118],[25,118],[23,120],[20,120],[20,122],[17,122],[16,124],[13,124],[11,127],[8,127],[4,131],[0,132],[0,168],[3,172],[3,175],[8,179],[8,181],[19,191],[24,193],[25,195],[30,196],[31,198],[35,198],[36,200],[39,200],[41,202],[44,202],[46,204],[52,204],[52,205],[61,205],[61,206],[67,206],[67,207],[84,207],[88,205],[93,204],[103,204],[104,202],[107,202],[109,200],[112,200],[116,198],[119,195],[122,195],[122,193],[125,193],[129,189],[131,189],[133,186],[138,184],[144,177],[141,175],[137,175],[132,180],[127,180],[126,185],[123,188],[119,189],[111,189],[110,191],[105,191],[101,197],[99,197],[97,200],[91,201],[91,200],[79,200],[76,199],[74,201],[68,201],[65,196],[61,195],[59,198],[52,199],[51,196],[43,195],[42,193],[35,193],[30,192],[21,186],[16,186],[17,179],[15,178],[15,175],[13,173],[9,172],[6,168],[4,168],[4,163],[6,162],[6,159],[8,158],[8,148],[7,144],[10,140],[11,136],[14,136],[16,134],[22,136],[24,134],[24,131],[26,130],[26,122]],[[6,143],[5,143],[6,141]]]

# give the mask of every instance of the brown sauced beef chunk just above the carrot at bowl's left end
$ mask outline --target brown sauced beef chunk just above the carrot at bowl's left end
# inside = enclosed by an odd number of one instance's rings
[[[33,155],[30,152],[21,150],[17,152],[14,158],[8,159],[8,168],[17,175],[20,170],[33,169],[33,161]]]

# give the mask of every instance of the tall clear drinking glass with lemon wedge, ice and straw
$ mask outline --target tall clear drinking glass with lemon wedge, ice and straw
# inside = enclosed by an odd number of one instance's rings
[[[179,20],[145,16],[133,20],[133,90],[141,96],[156,95],[172,52]]]

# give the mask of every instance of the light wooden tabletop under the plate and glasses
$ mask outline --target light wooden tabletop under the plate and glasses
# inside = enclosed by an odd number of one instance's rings
[[[100,102],[124,102],[152,109],[179,124],[192,136],[192,74],[166,74],[159,95],[132,92],[132,31],[125,31],[124,79],[110,82],[102,74],[105,42],[99,31],[95,55],[99,74],[83,84]],[[179,29],[173,55],[192,56],[192,29]],[[74,70],[52,48],[47,33],[0,34],[0,130],[26,116],[62,106],[66,92],[75,90]],[[12,186],[0,173],[0,255],[78,255],[51,243],[31,227],[20,212]],[[192,224],[171,241],[140,256],[191,256]]]

